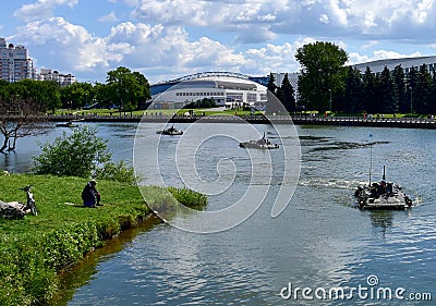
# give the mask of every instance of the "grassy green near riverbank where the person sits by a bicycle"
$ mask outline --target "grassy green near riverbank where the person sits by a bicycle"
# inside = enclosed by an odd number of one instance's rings
[[[137,186],[100,181],[104,206],[83,208],[86,180],[50,175],[0,176],[0,199],[25,203],[19,187],[33,185],[38,216],[0,218],[0,305],[44,305],[57,293],[59,272],[77,264],[123,229],[150,213]],[[161,187],[142,187],[147,201],[173,204]],[[184,205],[205,205],[207,198],[171,188]]]

